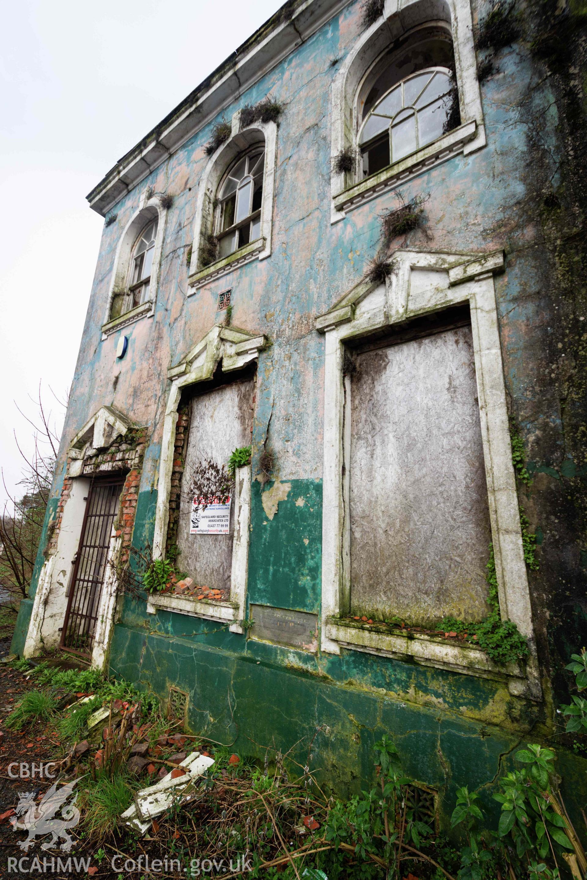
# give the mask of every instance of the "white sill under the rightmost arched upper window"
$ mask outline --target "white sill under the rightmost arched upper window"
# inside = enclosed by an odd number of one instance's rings
[[[341,219],[341,215],[346,212],[358,208],[365,202],[371,202],[371,199],[377,198],[381,193],[385,193],[398,184],[404,183],[427,171],[433,165],[440,165],[447,159],[461,152],[465,144],[472,141],[477,133],[477,123],[466,122],[459,128],[453,128],[448,134],[439,137],[434,143],[430,143],[422,150],[417,150],[411,156],[401,159],[400,162],[389,165],[378,174],[372,174],[364,180],[360,180],[352,187],[344,189],[341,193],[334,196],[334,208],[339,212],[336,219]]]

